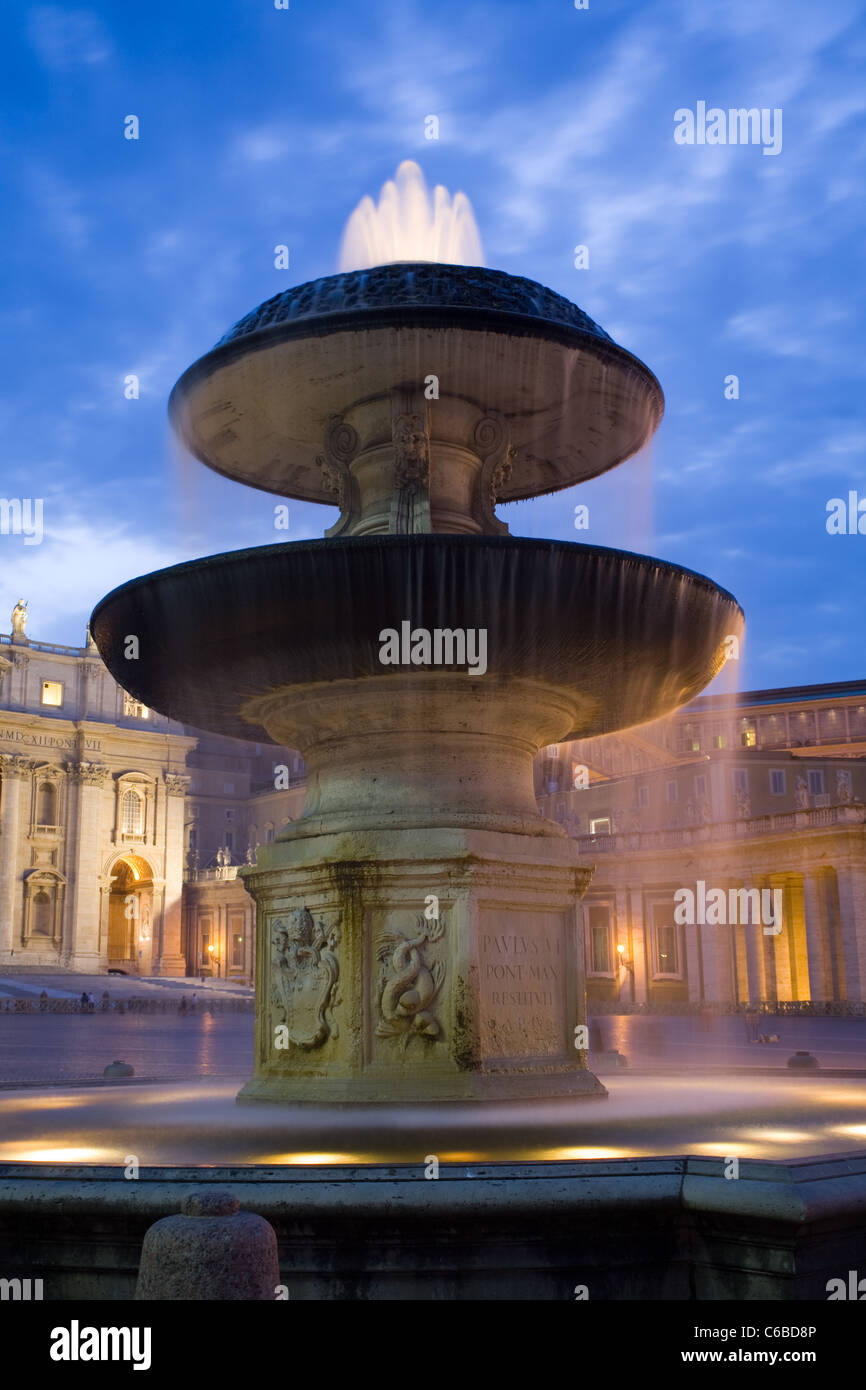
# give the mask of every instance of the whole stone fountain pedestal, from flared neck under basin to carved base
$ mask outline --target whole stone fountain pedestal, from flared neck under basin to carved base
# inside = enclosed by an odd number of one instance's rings
[[[574,717],[563,692],[418,673],[254,713],[310,780],[304,816],[242,870],[257,1033],[239,1099],[606,1094],[575,1047],[591,870],[532,798],[535,749]]]

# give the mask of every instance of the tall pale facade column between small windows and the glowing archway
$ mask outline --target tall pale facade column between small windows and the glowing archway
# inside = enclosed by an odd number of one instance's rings
[[[100,967],[101,905],[101,810],[103,792],[110,777],[100,763],[71,763],[71,799],[76,803],[75,837],[70,844],[70,933],[64,942],[64,965],[96,974]]]

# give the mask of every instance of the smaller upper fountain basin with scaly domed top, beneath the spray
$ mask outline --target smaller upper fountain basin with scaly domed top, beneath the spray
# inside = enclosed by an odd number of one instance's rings
[[[430,378],[435,396],[424,396]],[[498,502],[605,473],[646,442],[663,410],[649,368],[562,295],[503,271],[400,261],[265,300],[183,373],[170,414],[217,473],[334,505],[322,474],[328,431],[360,411],[360,453],[375,450],[391,424],[373,404],[406,409],[395,393],[475,410],[474,421],[452,425],[443,406],[431,407],[443,423],[443,459],[464,424],[503,418],[510,473]],[[435,428],[431,439],[435,471]]]

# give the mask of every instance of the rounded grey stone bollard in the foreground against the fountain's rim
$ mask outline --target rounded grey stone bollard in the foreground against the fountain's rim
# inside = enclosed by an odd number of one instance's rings
[[[136,1300],[272,1300],[277,1234],[227,1191],[199,1190],[145,1233]]]

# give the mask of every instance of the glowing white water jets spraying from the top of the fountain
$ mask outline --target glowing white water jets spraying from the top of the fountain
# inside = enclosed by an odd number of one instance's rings
[[[339,270],[367,270],[400,260],[484,265],[481,234],[466,193],[436,183],[432,199],[414,160],[403,160],[382,185],[378,207],[364,196],[346,222]]]

